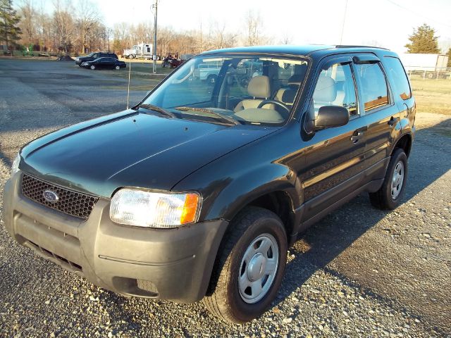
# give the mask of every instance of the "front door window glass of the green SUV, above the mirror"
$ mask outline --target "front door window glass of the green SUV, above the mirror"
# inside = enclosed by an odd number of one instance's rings
[[[323,106],[342,106],[351,118],[358,116],[354,78],[349,63],[335,63],[321,70],[313,94],[315,116]]]

